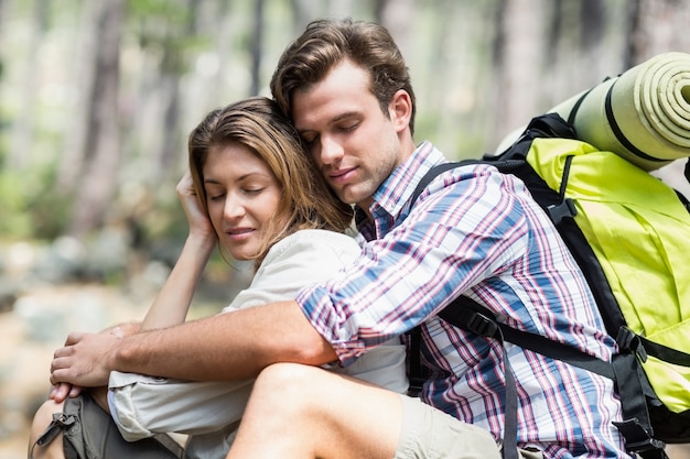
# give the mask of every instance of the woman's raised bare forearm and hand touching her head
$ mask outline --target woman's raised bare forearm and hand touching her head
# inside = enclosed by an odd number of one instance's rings
[[[182,324],[192,297],[216,244],[211,220],[198,205],[192,176],[187,172],[177,184],[177,197],[190,223],[190,234],[163,288],[149,308],[141,331]]]

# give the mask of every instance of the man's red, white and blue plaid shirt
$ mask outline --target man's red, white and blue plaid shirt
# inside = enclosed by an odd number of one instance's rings
[[[508,325],[608,360],[604,330],[584,277],[522,183],[471,165],[436,177],[412,207],[427,171],[445,162],[430,143],[379,187],[362,221],[358,261],[298,296],[306,317],[344,365],[422,325],[431,371],[422,400],[503,437],[502,349],[435,314],[465,294]],[[362,214],[362,212],[360,212]],[[547,458],[622,458],[621,418],[610,380],[506,345],[518,390],[518,444]]]

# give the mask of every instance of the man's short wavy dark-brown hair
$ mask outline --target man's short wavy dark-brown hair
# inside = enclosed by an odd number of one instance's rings
[[[410,131],[413,133],[417,108],[409,69],[396,42],[379,24],[349,19],[310,23],[283,51],[271,78],[271,92],[282,110],[291,116],[295,89],[319,83],[346,58],[368,72],[371,92],[386,116],[388,103],[399,89],[410,95]]]

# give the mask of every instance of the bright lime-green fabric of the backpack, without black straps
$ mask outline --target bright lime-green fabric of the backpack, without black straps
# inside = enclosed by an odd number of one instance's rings
[[[644,339],[643,368],[651,387],[670,412],[690,413],[690,367],[650,350],[690,350],[690,214],[683,203],[645,171],[575,140],[535,139],[527,162],[549,187],[565,184],[574,220],[627,327]]]

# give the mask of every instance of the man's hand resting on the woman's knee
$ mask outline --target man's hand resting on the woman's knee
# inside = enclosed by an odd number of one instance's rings
[[[65,347],[55,351],[51,363],[51,383],[60,384],[61,395],[67,383],[79,387],[97,387],[108,384],[109,363],[121,336],[117,334],[78,334],[67,337]]]

